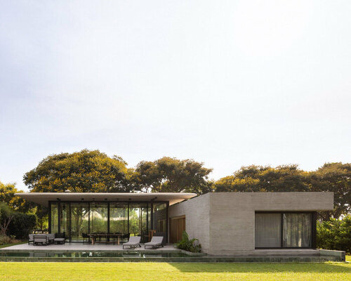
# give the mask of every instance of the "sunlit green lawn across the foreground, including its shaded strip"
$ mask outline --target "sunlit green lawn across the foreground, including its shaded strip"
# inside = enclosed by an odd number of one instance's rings
[[[336,281],[350,263],[0,263],[0,280]]]

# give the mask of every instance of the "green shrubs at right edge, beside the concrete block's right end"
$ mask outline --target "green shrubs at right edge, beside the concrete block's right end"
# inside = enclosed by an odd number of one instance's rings
[[[351,253],[351,215],[317,223],[317,247]]]

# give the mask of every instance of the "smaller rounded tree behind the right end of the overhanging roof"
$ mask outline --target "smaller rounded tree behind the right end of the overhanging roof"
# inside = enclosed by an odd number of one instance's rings
[[[151,192],[211,192],[213,183],[208,180],[212,169],[192,159],[180,160],[163,157],[154,162],[140,162],[133,175],[135,186]]]

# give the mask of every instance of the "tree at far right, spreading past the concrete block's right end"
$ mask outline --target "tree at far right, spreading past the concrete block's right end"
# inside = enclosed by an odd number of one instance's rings
[[[351,212],[351,164],[326,163],[310,173],[311,191],[334,192],[333,211],[324,211],[319,216],[324,220],[340,218]]]

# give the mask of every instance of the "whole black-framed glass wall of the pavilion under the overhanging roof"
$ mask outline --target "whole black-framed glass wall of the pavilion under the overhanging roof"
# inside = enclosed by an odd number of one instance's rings
[[[81,242],[89,233],[121,233],[167,241],[167,204],[161,202],[51,202],[51,233]],[[84,237],[83,237],[84,236]]]

